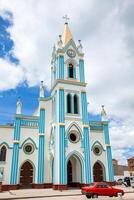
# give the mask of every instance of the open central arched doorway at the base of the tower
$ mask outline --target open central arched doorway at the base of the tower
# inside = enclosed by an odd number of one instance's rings
[[[82,165],[78,156],[72,155],[67,162],[67,184],[69,187],[79,187],[82,183]]]

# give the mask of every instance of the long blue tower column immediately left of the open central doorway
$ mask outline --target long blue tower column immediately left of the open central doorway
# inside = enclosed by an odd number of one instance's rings
[[[60,184],[67,184],[65,162],[65,103],[64,89],[59,89],[59,170]]]

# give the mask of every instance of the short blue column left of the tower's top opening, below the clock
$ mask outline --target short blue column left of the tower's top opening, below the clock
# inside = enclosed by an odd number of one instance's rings
[[[64,79],[64,56],[58,57],[58,63],[57,63],[57,79]]]

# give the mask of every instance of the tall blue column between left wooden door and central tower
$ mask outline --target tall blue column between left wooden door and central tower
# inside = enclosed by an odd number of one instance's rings
[[[44,183],[44,148],[45,148],[45,109],[40,109],[39,148],[38,148],[38,184]]]

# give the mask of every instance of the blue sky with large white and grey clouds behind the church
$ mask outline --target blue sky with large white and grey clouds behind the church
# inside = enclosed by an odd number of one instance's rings
[[[52,47],[68,14],[74,41],[81,39],[90,119],[105,105],[113,158],[134,156],[134,1],[0,0],[0,124],[13,122],[21,96],[23,113],[38,105],[38,87],[51,83]]]

